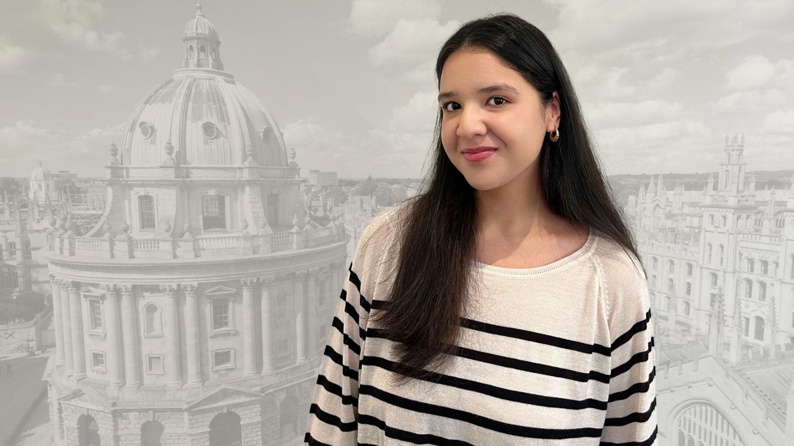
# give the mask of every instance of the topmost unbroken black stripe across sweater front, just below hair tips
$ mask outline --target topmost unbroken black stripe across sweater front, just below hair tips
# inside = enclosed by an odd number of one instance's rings
[[[463,421],[470,425],[477,425],[485,429],[491,429],[494,432],[527,438],[564,439],[578,438],[583,436],[599,437],[601,436],[602,430],[600,428],[545,429],[512,425],[503,421],[492,420],[491,418],[484,417],[476,413],[466,412],[461,409],[413,401],[395,394],[390,394],[384,390],[378,389],[377,387],[369,386],[368,384],[362,384],[360,386],[359,394],[368,394],[373,398],[378,398],[383,402],[391,404],[392,406],[397,406],[402,409],[411,410],[413,412],[430,413],[437,417],[451,418],[453,420]],[[362,418],[360,416],[359,421],[362,422],[361,420]]]

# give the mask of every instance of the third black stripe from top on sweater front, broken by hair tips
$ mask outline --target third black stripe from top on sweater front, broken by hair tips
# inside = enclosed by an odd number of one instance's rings
[[[361,367],[371,365],[380,367],[387,371],[393,371],[395,361],[381,358],[379,356],[364,356],[362,359]],[[499,386],[492,386],[491,384],[480,383],[471,379],[458,378],[457,376],[443,375],[440,373],[431,372],[430,376],[424,381],[429,383],[440,383],[445,386],[456,387],[458,389],[471,390],[480,394],[486,394],[494,398],[500,398],[507,401],[520,402],[522,404],[530,404],[534,406],[553,407],[557,409],[599,409],[606,410],[607,402],[599,401],[593,398],[584,400],[574,400],[568,398],[549,397],[542,394],[530,394],[520,390],[505,389]]]

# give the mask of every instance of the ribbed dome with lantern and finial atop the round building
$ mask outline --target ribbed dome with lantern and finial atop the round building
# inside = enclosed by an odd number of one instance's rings
[[[183,37],[184,68],[133,110],[121,142],[121,164],[159,166],[168,160],[184,166],[242,166],[252,161],[287,167],[276,120],[256,95],[223,71],[218,32],[204,17],[201,2],[196,7]]]

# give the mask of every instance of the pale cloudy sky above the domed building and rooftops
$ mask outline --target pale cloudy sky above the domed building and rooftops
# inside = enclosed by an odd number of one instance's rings
[[[418,177],[438,48],[464,21],[517,13],[560,52],[607,174],[794,162],[794,2],[203,0],[226,71],[309,169]],[[141,97],[182,67],[195,0],[0,0],[0,175],[102,177]],[[563,136],[565,137],[565,136]],[[426,167],[425,167],[426,168]]]

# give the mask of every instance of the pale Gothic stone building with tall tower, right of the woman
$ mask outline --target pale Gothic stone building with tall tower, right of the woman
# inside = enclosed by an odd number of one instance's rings
[[[794,179],[756,190],[727,136],[704,190],[630,198],[657,342],[660,446],[794,444]]]

